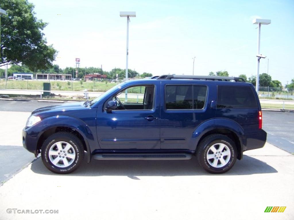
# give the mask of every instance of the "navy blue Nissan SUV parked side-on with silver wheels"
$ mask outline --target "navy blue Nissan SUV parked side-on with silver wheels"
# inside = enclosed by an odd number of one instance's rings
[[[36,109],[24,148],[55,173],[96,160],[189,160],[224,173],[266,141],[258,95],[239,77],[163,75],[127,81],[93,101]],[[87,153],[85,153],[85,151]],[[168,165],[168,164],[167,164]]]

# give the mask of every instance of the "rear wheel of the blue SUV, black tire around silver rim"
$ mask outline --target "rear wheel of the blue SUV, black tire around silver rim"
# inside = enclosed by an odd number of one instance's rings
[[[216,151],[216,153],[213,153],[212,149],[218,150],[221,146],[226,146],[222,152],[219,151],[220,153],[218,153],[218,151]],[[223,155],[229,153],[230,155]],[[207,155],[213,158],[208,159]],[[212,134],[201,141],[197,148],[196,157],[199,165],[204,170],[213,174],[220,174],[229,171],[233,167],[237,159],[237,149],[234,141],[227,136]],[[223,165],[220,160],[226,162],[224,163],[225,165]],[[216,162],[216,164],[214,162]]]

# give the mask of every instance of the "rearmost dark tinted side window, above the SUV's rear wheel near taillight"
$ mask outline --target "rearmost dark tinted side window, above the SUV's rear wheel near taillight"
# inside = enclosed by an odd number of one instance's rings
[[[249,86],[218,86],[217,108],[257,108]]]

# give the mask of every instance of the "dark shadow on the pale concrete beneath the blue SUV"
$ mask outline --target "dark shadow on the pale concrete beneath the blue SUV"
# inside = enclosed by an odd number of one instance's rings
[[[43,175],[59,175],[50,172],[44,166],[42,159],[34,161],[31,170]],[[251,175],[261,173],[276,173],[275,168],[267,163],[250,156],[243,156],[243,160],[237,160],[234,167],[222,175]],[[60,174],[62,175],[62,174]],[[70,176],[128,176],[138,179],[136,176],[201,176],[214,175],[203,170],[197,163],[196,157],[191,160],[92,160],[86,163]]]

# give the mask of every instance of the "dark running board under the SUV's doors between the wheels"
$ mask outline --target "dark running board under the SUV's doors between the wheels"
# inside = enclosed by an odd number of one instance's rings
[[[192,158],[191,154],[186,153],[156,153],[156,154],[125,154],[125,153],[116,153],[116,154],[94,154],[92,156],[95,160],[190,160]]]

